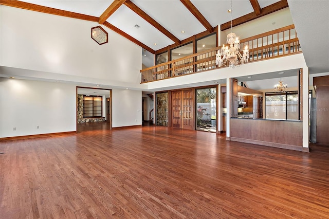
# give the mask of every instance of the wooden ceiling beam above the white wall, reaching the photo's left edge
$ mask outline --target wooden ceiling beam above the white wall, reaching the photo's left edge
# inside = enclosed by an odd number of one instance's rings
[[[13,1],[13,0],[1,0],[0,5],[6,5],[6,6],[10,6],[10,7],[15,7],[15,8],[22,8],[22,9],[27,9],[27,10],[31,10],[31,11],[38,11],[38,12],[43,12],[43,13],[47,13],[47,14],[71,17],[74,19],[98,22],[98,17],[95,17],[95,16],[90,16],[90,15],[85,15],[85,14],[80,14],[80,13],[75,13],[75,12],[70,12],[70,11],[64,11],[64,10],[55,9],[55,8],[49,8],[46,6],[35,5],[35,4],[31,4],[31,3],[26,3],[26,2]]]

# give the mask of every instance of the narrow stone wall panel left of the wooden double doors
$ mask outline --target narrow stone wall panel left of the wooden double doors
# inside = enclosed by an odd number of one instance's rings
[[[168,126],[168,92],[156,94],[156,125]]]

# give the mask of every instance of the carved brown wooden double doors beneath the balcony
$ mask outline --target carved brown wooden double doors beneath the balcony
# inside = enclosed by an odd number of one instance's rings
[[[171,92],[171,127],[195,130],[193,89]]]

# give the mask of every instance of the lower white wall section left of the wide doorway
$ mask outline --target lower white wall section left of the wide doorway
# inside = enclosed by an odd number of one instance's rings
[[[76,131],[74,85],[0,78],[0,95],[0,137]]]

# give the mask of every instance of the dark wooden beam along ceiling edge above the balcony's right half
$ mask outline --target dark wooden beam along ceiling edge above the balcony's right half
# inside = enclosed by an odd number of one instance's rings
[[[287,0],[281,0],[280,2],[274,3],[272,5],[269,5],[265,8],[261,9],[261,14],[256,15],[254,12],[251,12],[249,14],[246,14],[244,16],[238,17],[237,19],[232,20],[232,27],[246,23],[248,21],[252,21],[254,19],[258,19],[259,17],[262,17],[264,15],[279,11],[283,8],[288,7]],[[231,27],[231,21],[226,22],[221,25],[221,31],[227,30]]]

